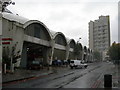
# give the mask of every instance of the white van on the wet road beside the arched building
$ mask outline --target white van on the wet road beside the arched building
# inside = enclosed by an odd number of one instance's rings
[[[87,64],[85,64],[84,62],[82,62],[82,60],[71,60],[70,61],[70,67],[71,69],[73,69],[73,67],[77,68],[87,68]]]

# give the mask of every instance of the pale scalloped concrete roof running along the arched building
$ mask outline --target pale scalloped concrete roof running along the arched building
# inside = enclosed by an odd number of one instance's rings
[[[38,24],[42,25],[46,29],[46,31],[50,35],[51,39],[55,39],[55,37],[57,35],[62,35],[63,38],[65,39],[66,44],[69,44],[72,41],[75,42],[74,39],[66,39],[65,35],[62,32],[55,32],[55,31],[49,30],[47,28],[47,26],[44,23],[42,23],[41,21],[38,21],[38,20],[29,20],[27,18],[21,17],[19,15],[15,15],[13,13],[8,13],[8,12],[2,12],[2,17],[5,18],[5,19],[8,19],[10,21],[15,21],[15,22],[18,22],[18,23],[22,24],[23,28],[26,28],[30,24],[38,23]],[[75,42],[75,44],[76,44],[76,42]]]

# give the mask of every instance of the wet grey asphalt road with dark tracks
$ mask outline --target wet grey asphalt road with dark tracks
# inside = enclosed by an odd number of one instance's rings
[[[87,69],[70,69],[3,86],[3,88],[103,88],[104,74],[110,74],[113,65],[92,63]]]

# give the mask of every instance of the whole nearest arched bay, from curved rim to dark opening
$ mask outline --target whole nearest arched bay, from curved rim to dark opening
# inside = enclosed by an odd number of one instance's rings
[[[49,29],[37,20],[29,20],[23,27],[25,38],[21,66],[30,67],[30,63],[36,58],[41,60],[43,65],[48,64],[48,58],[51,55],[50,42],[52,40]]]

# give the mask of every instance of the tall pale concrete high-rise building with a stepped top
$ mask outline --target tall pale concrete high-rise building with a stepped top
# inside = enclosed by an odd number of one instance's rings
[[[106,52],[110,47],[110,20],[109,16],[99,16],[98,20],[89,22],[89,48],[101,53],[105,60]]]

